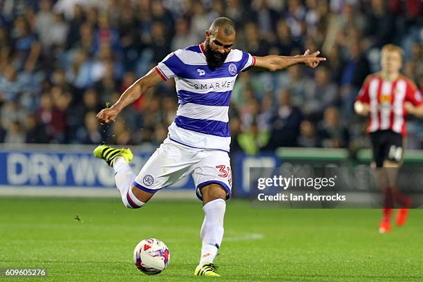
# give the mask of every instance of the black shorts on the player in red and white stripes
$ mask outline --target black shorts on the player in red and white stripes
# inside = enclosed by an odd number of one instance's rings
[[[381,130],[370,133],[372,142],[373,160],[376,167],[383,167],[384,160],[402,162],[404,148],[402,135],[391,130]]]

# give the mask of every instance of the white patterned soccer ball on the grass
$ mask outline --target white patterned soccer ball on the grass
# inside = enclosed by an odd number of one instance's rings
[[[169,249],[158,239],[144,239],[133,250],[133,263],[148,275],[159,274],[169,264]]]

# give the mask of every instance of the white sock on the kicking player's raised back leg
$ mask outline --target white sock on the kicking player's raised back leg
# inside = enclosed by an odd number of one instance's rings
[[[129,209],[138,209],[142,207],[142,203],[132,193],[132,183],[135,180],[135,174],[131,167],[123,157],[117,157],[113,160],[113,169],[115,169],[116,187],[122,196],[122,202]]]

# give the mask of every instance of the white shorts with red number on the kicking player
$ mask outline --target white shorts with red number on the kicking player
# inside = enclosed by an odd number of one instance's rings
[[[133,185],[142,191],[156,193],[190,173],[200,200],[203,200],[200,188],[212,183],[226,190],[226,199],[231,196],[232,171],[227,152],[191,148],[169,138],[144,164]]]

